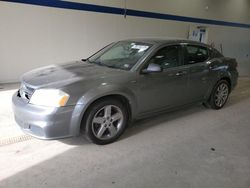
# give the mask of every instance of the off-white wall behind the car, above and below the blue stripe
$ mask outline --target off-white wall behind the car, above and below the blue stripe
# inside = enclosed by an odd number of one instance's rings
[[[78,2],[125,5],[124,0]],[[126,4],[136,10],[250,23],[248,0],[127,0]],[[115,40],[186,38],[190,25],[195,24],[0,1],[0,83],[17,81],[36,67],[88,57]],[[250,75],[250,29],[208,27],[209,42],[222,44],[224,55],[239,61],[241,75]]]

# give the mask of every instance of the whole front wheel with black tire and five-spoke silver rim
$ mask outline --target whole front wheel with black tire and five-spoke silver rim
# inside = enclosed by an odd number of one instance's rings
[[[125,131],[128,113],[120,101],[107,98],[91,105],[84,119],[87,139],[105,145],[116,141]]]

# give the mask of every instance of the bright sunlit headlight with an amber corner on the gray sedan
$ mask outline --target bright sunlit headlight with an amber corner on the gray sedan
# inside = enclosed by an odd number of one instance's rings
[[[38,89],[31,96],[31,104],[41,106],[60,107],[65,106],[69,95],[58,89]]]

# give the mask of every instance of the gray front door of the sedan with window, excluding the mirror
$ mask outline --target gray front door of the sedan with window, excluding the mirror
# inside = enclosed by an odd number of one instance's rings
[[[159,49],[145,64],[160,65],[162,71],[139,76],[139,113],[161,111],[185,103],[188,66],[183,65],[182,47],[171,45]]]

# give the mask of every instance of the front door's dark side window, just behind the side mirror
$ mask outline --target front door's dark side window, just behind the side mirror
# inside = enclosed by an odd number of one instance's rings
[[[177,67],[180,65],[181,60],[181,46],[167,46],[160,49],[150,59],[149,64],[160,65],[162,69]]]

